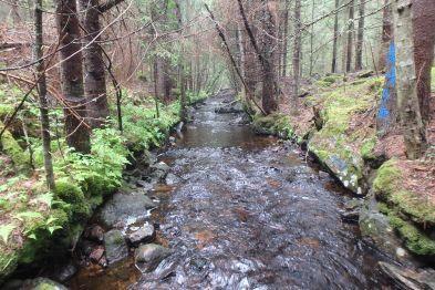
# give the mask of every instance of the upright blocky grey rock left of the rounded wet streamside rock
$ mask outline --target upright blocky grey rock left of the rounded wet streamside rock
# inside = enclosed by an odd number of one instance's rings
[[[121,230],[112,229],[104,234],[107,263],[121,261],[128,256],[128,247]]]

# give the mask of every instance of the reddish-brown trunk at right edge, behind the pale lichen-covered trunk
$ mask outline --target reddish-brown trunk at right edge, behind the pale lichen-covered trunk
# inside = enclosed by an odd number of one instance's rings
[[[413,1],[414,59],[423,123],[431,118],[431,70],[435,44],[435,1]],[[433,116],[434,117],[434,116]]]

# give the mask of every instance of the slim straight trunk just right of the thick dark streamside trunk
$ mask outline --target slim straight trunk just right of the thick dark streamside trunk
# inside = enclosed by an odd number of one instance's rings
[[[294,46],[293,46],[293,100],[299,95],[299,77],[301,71],[301,0],[294,1]],[[297,103],[294,102],[294,105]]]

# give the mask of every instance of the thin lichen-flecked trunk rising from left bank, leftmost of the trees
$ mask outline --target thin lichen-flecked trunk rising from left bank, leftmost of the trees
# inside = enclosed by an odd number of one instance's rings
[[[50,136],[50,118],[49,118],[49,102],[46,100],[46,83],[45,83],[45,68],[42,60],[42,0],[34,1],[34,58],[38,73],[38,94],[41,114],[41,137],[42,152],[44,156],[45,180],[49,190],[54,190],[54,173],[53,162],[51,156],[51,136]]]

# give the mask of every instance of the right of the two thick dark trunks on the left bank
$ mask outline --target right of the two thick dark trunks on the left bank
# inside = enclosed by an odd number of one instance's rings
[[[92,127],[102,127],[108,117],[108,102],[103,53],[97,43],[101,39],[99,0],[79,0],[79,6],[86,33],[83,45],[91,43],[83,50],[87,118]]]

